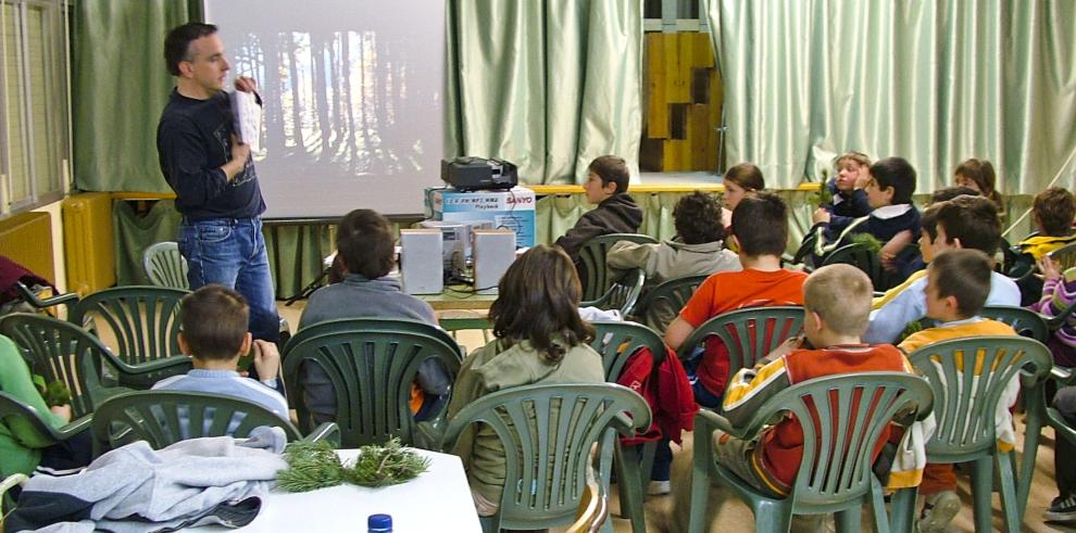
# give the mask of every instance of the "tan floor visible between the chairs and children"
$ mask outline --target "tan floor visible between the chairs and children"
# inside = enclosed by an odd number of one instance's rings
[[[299,316],[302,310],[303,302],[298,302],[291,307],[284,307],[280,305],[280,314],[286,317],[295,328],[299,323]],[[460,344],[466,346],[468,351],[474,350],[481,344],[484,340],[481,333],[478,331],[463,331],[460,332],[458,337]],[[1017,417],[1019,418],[1019,417]],[[1023,433],[1023,431],[1021,431]],[[1076,526],[1062,525],[1054,523],[1043,523],[1042,522],[1042,511],[1050,505],[1050,500],[1056,496],[1056,487],[1053,481],[1053,430],[1043,430],[1042,439],[1040,440],[1039,454],[1036,460],[1036,473],[1031,485],[1031,492],[1028,496],[1027,511],[1024,519],[1024,531],[1030,532],[1055,532],[1055,531],[1066,531],[1076,532]],[[670,496],[659,496],[651,497],[647,500],[647,525],[648,530],[654,533],[678,533],[680,530],[671,528],[671,516],[674,508],[674,498],[679,495],[687,495],[688,486],[684,482],[686,479],[687,471],[690,469],[691,459],[691,434],[684,435],[684,448],[677,449],[674,446],[673,456],[673,494]],[[966,474],[958,475],[960,481],[960,493],[961,498],[964,502],[964,507],[961,513],[956,517],[953,523],[950,525],[950,532],[972,532],[975,530],[973,525],[972,508],[971,508],[971,492],[968,488],[968,478]],[[614,513],[618,512],[620,505],[615,502],[615,490],[614,502],[612,508]],[[711,506],[717,505],[721,495],[717,494],[718,490],[711,491]],[[994,508],[994,529],[1000,530],[1003,523],[1003,518],[1001,516],[1001,504],[996,494],[993,496],[993,508]],[[864,515],[864,530],[869,531],[869,521],[867,516]],[[1076,525],[1076,524],[1074,524]],[[751,511],[746,505],[737,500],[736,498],[728,498],[727,502],[722,505],[718,512],[715,515],[713,522],[711,523],[711,533],[733,533],[733,532],[746,532],[753,531],[754,519],[751,516]],[[631,528],[627,520],[621,518],[613,518],[613,530],[617,533],[620,532],[630,532]]]

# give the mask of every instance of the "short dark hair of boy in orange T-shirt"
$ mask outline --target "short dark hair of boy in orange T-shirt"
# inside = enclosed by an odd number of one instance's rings
[[[749,257],[779,256],[788,246],[788,206],[773,192],[743,196],[733,211],[733,234]]]

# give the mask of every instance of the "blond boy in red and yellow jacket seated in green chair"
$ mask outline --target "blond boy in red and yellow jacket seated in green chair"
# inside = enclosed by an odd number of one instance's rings
[[[778,392],[815,378],[867,371],[911,372],[904,355],[892,345],[861,342],[871,312],[871,279],[854,266],[828,265],[812,272],[803,283],[803,332],[808,343],[802,338],[789,339],[755,368],[737,372],[723,402],[728,421],[742,426]],[[875,458],[889,432],[889,428],[885,429],[875,443]],[[713,442],[717,462],[749,485],[775,498],[788,495],[803,457],[803,431],[796,420],[785,418],[750,441],[715,431]],[[677,496],[676,517],[683,519],[684,504],[689,498]],[[704,529],[711,522],[708,520]]]

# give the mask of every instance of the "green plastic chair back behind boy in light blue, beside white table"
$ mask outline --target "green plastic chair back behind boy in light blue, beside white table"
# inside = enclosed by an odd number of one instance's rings
[[[187,423],[183,423],[186,418]],[[114,396],[93,414],[93,457],[135,441],[153,449],[203,436],[246,437],[260,426],[280,428],[288,441],[301,437],[299,430],[273,411],[240,397],[182,391],[139,391]],[[339,445],[335,423],[324,423],[306,440],[327,440]]]

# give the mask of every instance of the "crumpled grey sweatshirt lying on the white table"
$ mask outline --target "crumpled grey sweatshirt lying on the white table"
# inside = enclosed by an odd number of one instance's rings
[[[4,531],[151,532],[190,525],[223,503],[268,491],[287,468],[279,428],[251,437],[192,439],[161,450],[145,441],[113,449],[86,470],[30,478]],[[255,510],[257,512],[257,510]]]

